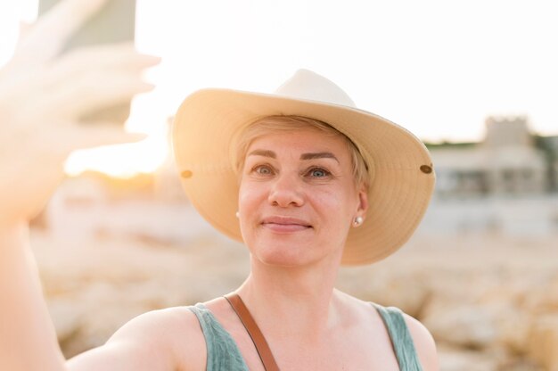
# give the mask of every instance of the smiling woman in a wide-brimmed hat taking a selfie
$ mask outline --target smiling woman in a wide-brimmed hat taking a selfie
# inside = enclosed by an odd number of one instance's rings
[[[137,70],[155,62],[129,58]],[[135,83],[121,94],[148,88]],[[15,101],[0,99],[8,102]],[[185,191],[213,226],[246,243],[245,283],[226,298],[136,317],[105,345],[66,362],[27,250],[27,220],[52,192],[70,149],[122,138],[92,136],[93,128],[69,119],[78,111],[37,107],[4,104],[2,111],[3,143],[18,133],[32,141],[25,156],[1,159],[0,369],[438,369],[421,324],[333,288],[341,264],[381,260],[413,233],[434,183],[430,157],[405,129],[358,110],[306,70],[275,95],[197,92],[176,115]],[[27,127],[37,123],[30,114],[65,118],[55,136],[68,134],[68,148],[51,144],[50,130]]]

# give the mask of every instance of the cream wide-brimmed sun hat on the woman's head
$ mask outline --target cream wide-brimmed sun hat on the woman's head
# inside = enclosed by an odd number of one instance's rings
[[[413,234],[434,188],[431,158],[405,128],[359,110],[332,81],[299,70],[275,94],[203,89],[176,112],[173,138],[182,185],[194,207],[213,227],[242,241],[235,137],[251,122],[270,115],[322,120],[348,136],[370,174],[365,223],[351,228],[342,264],[382,260]],[[334,211],[332,211],[334,212]]]

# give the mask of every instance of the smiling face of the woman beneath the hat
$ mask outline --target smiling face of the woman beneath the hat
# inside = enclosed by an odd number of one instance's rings
[[[355,217],[365,215],[340,136],[299,129],[260,136],[246,154],[239,194],[242,237],[266,263],[341,260]]]

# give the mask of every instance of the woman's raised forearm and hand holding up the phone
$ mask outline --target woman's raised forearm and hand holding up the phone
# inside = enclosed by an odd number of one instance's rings
[[[86,112],[148,91],[158,62],[132,45],[59,56],[64,40],[104,0],[66,0],[27,29],[0,70],[0,369],[59,370],[56,341],[29,251],[28,221],[63,177],[75,150],[137,140],[121,126],[83,125]]]

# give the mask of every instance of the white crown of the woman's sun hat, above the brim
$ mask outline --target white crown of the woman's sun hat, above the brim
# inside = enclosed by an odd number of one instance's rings
[[[308,101],[356,107],[353,100],[341,87],[310,70],[296,71],[291,78],[275,90],[275,94]]]

